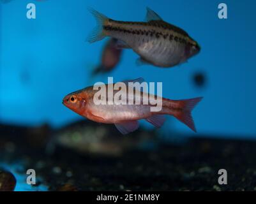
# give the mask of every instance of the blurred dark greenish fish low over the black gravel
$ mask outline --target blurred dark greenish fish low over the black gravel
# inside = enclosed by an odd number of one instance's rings
[[[52,153],[60,145],[82,154],[121,156],[126,150],[142,147],[142,143],[153,140],[154,136],[153,131],[144,130],[123,136],[112,125],[81,120],[59,129],[47,150]]]

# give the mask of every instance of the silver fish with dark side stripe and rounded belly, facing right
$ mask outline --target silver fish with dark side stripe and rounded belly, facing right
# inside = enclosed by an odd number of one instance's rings
[[[147,8],[147,22],[112,20],[102,13],[90,10],[98,26],[88,38],[89,43],[110,36],[119,40],[119,47],[132,48],[140,55],[139,64],[169,68],[186,62],[199,53],[199,44],[183,29],[162,20]]]

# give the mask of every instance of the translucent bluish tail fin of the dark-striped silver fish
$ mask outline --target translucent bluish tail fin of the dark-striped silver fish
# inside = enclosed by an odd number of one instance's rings
[[[87,41],[89,43],[94,43],[105,38],[105,34],[103,33],[103,25],[106,24],[109,18],[103,15],[102,13],[94,10],[93,8],[88,8],[88,10],[91,12],[91,14],[93,14],[97,22],[97,25],[94,28],[93,32],[89,34],[87,38]]]

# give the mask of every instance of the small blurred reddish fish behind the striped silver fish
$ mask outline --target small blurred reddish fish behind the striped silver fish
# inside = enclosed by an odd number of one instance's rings
[[[112,71],[112,69],[119,63],[122,51],[121,48],[117,47],[117,40],[115,38],[110,38],[103,48],[101,64],[94,69],[92,75],[94,76],[98,73]]]

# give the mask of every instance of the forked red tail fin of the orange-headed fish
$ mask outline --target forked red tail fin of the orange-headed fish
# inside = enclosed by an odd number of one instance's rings
[[[197,132],[197,130],[195,129],[195,124],[191,112],[195,105],[197,105],[197,103],[199,103],[201,100],[202,97],[181,100],[180,102],[182,102],[183,104],[183,110],[181,112],[174,114],[174,117],[176,117],[176,119],[186,124],[186,126],[195,131],[195,133]]]

